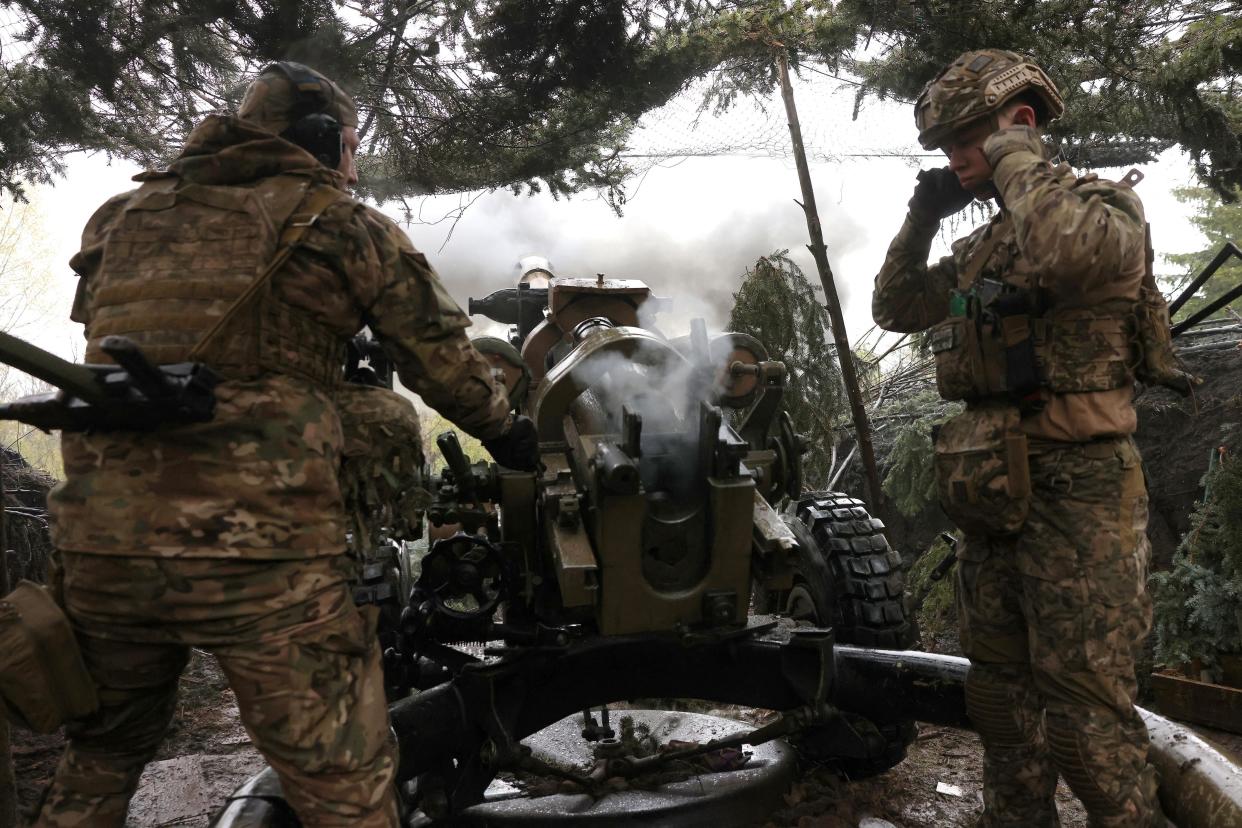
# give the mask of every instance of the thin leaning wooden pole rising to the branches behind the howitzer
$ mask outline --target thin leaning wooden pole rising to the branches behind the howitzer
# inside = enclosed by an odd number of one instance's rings
[[[820,226],[820,212],[815,206],[815,189],[811,186],[811,170],[806,165],[806,149],[802,146],[802,127],[797,120],[797,107],[794,104],[794,87],[789,82],[789,58],[785,51],[780,50],[777,57],[780,68],[780,93],[785,99],[785,114],[789,115],[789,137],[794,144],[794,161],[797,164],[797,180],[802,185],[802,212],[806,214],[806,228],[811,235],[811,243],[807,250],[815,257],[815,267],[820,272],[820,283],[823,284],[823,295],[828,305],[828,317],[832,319],[832,339],[837,345],[837,361],[841,364],[841,379],[846,384],[846,395],[850,397],[850,411],[853,415],[854,431],[858,436],[858,449],[862,454],[863,468],[866,469],[867,494],[873,509],[879,510],[884,505],[884,493],[879,488],[879,472],[876,468],[876,451],[871,444],[871,423],[867,421],[867,410],[862,405],[862,392],[858,390],[858,374],[853,366],[853,351],[850,349],[850,336],[846,334],[846,320],[841,314],[841,300],[837,298],[837,287],[832,281],[832,269],[828,267],[828,250],[823,245],[823,230]]]

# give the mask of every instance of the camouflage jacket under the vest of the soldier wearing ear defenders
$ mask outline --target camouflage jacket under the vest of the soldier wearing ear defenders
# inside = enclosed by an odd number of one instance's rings
[[[294,145],[222,115],[202,122],[166,171],[135,180],[174,176],[247,187],[274,175],[340,182]],[[71,262],[79,276],[72,318],[88,335],[93,277],[111,228],[137,192],[116,196],[94,214]],[[466,336],[469,319],[409,237],[376,210],[337,200],[274,274],[272,292],[342,341],[370,325],[401,381],[467,432],[486,438],[507,428],[508,402]],[[66,480],[48,504],[53,541],[93,554],[339,554],[343,436],[334,392],[281,374],[229,380],[217,389],[212,422],[153,433],[65,434]]]

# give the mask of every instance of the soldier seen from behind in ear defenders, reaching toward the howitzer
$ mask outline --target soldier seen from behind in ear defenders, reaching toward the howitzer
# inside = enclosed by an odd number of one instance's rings
[[[294,143],[306,124],[338,130],[338,151]],[[225,381],[211,422],[62,439],[60,600],[102,706],[68,725],[40,826],[124,823],[191,647],[217,657],[304,824],[397,824],[374,613],[355,608],[344,555],[345,341],[370,325],[402,382],[503,464],[533,467],[535,443],[427,259],[345,191],[356,124],[334,83],[273,65],[237,115],[199,124],[83,232],[72,318],[87,361],[124,334]]]

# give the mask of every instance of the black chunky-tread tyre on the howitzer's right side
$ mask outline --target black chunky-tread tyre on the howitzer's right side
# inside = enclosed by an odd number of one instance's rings
[[[889,547],[884,524],[867,513],[862,500],[840,492],[807,493],[785,521],[799,545],[794,587],[756,590],[756,612],[832,627],[842,644],[907,649],[914,643],[914,627],[905,614],[902,556]],[[846,720],[806,731],[797,746],[809,758],[833,761],[851,778],[893,767],[905,758],[917,735],[912,719],[873,721],[847,714]],[[863,749],[842,755],[848,742]]]

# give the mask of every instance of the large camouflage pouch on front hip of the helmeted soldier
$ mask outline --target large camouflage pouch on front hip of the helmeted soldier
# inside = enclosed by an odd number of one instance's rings
[[[1031,506],[1026,434],[1016,406],[968,408],[935,433],[936,489],[969,534],[1012,535]]]

